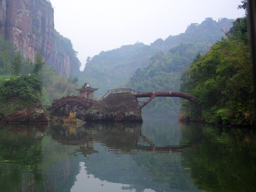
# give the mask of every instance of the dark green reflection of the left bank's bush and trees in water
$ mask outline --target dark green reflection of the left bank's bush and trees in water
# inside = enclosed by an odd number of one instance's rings
[[[1,191],[28,191],[42,178],[37,166],[46,126],[0,124]]]

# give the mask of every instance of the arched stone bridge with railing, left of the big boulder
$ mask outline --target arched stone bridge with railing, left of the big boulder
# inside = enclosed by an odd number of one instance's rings
[[[92,107],[94,102],[96,101],[72,95],[53,100],[51,109],[53,110],[53,112],[57,112],[58,110],[60,110],[60,108],[65,107],[66,105],[82,105],[84,107],[90,108]]]

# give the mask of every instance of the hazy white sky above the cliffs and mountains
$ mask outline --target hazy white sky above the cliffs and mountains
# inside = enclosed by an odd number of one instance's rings
[[[212,17],[236,19],[241,0],[50,0],[54,28],[71,40],[84,69],[86,58],[140,41],[184,33]]]

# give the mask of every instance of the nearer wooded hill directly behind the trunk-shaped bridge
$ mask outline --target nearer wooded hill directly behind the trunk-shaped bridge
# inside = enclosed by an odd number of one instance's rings
[[[189,66],[197,52],[199,48],[193,43],[181,43],[167,54],[158,52],[150,58],[146,68],[137,69],[123,86],[142,92],[179,91],[180,73]],[[178,98],[155,98],[142,109],[142,115],[177,117],[179,103]]]

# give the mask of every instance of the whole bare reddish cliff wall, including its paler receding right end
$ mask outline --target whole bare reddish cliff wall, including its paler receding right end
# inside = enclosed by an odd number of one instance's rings
[[[0,0],[0,36],[12,41],[25,59],[35,61],[36,52],[40,51],[48,66],[58,69],[60,75],[72,76],[80,62],[70,53],[60,53],[53,37],[53,13],[46,0]]]

